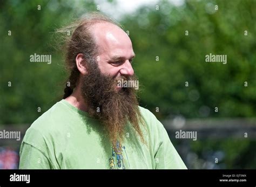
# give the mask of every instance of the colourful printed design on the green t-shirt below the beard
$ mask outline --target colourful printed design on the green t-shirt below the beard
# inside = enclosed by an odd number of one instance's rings
[[[112,158],[109,158],[110,169],[116,169],[116,167],[125,169],[123,153],[125,154],[127,162],[130,167],[125,146],[122,146],[122,144],[116,141],[116,143],[114,143],[112,146]]]

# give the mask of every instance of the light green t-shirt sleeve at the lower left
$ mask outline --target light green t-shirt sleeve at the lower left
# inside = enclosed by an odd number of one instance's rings
[[[38,148],[22,142],[19,169],[52,169],[49,158]]]

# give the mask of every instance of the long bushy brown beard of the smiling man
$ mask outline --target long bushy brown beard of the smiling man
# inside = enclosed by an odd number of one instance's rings
[[[134,87],[117,88],[118,80],[137,81],[136,75],[114,78],[100,72],[97,63],[87,67],[88,74],[82,77],[82,96],[90,116],[98,119],[109,135],[110,141],[123,141],[124,129],[130,122],[144,142],[140,124],[144,125]]]

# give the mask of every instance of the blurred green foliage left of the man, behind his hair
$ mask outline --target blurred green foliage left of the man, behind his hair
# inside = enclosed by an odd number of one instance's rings
[[[0,3],[0,89],[4,98],[0,124],[31,123],[61,99],[66,74],[63,58],[55,50],[55,30],[77,18],[78,11],[73,10],[70,1]],[[83,13],[95,7],[91,2],[79,4],[86,8]],[[51,54],[52,63],[31,63],[30,55],[34,53]]]

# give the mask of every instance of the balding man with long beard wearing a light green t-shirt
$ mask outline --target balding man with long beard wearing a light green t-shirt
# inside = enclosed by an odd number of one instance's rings
[[[186,169],[163,124],[138,106],[135,84],[118,84],[138,81],[127,34],[99,13],[72,28],[63,100],[26,131],[19,168]]]

